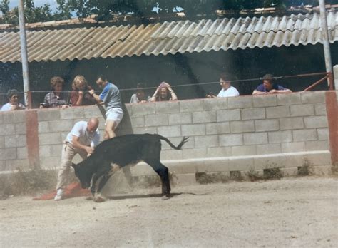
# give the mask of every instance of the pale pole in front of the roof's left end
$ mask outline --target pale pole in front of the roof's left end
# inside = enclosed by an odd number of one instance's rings
[[[31,91],[29,90],[29,66],[27,58],[28,56],[27,56],[26,27],[25,27],[23,0],[19,0],[19,27],[20,27],[21,63],[22,63],[22,78],[24,79],[25,105],[28,108],[31,108]]]

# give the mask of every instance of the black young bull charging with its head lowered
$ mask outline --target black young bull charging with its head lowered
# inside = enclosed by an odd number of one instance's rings
[[[72,164],[75,175],[81,182],[83,188],[91,187],[91,193],[95,196],[99,194],[103,186],[113,175],[113,167],[124,167],[126,165],[135,165],[140,161],[148,163],[153,170],[160,176],[162,182],[162,195],[170,197],[170,180],[168,167],[160,162],[160,140],[165,140],[172,148],[180,150],[188,137],[178,146],[161,135],[157,134],[140,134],[140,135],[123,135],[100,143],[94,150],[93,154],[87,157],[77,165]],[[96,187],[96,182],[98,179]]]

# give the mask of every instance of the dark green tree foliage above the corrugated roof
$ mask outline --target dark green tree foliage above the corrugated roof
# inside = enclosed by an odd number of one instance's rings
[[[18,10],[9,9],[10,0],[1,0],[1,23],[17,23]],[[148,17],[183,10],[188,16],[212,14],[217,9],[242,10],[275,6],[284,9],[291,5],[318,5],[318,0],[56,0],[58,7],[52,12],[48,4],[36,7],[33,0],[24,0],[26,22],[70,19],[96,14],[98,20],[112,19],[116,14],[133,14]],[[337,4],[337,0],[326,0]]]

